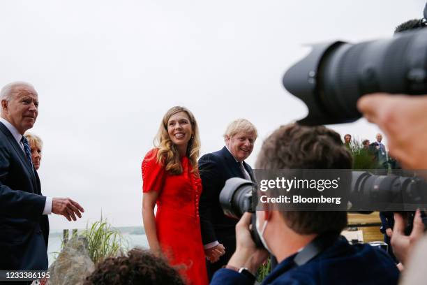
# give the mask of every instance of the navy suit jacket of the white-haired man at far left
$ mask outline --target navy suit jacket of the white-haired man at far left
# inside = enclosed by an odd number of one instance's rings
[[[27,156],[0,122],[0,270],[46,270],[46,197]]]

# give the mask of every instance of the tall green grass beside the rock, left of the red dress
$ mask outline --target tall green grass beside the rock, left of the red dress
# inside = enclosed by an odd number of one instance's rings
[[[87,238],[89,256],[93,263],[103,261],[110,256],[117,256],[126,251],[127,242],[121,233],[112,228],[101,216],[100,221],[87,225],[82,235]]]

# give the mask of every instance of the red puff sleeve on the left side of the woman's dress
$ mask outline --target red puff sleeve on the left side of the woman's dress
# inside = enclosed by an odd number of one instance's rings
[[[151,149],[142,161],[142,192],[160,191],[166,178],[166,171],[157,163],[158,149]]]

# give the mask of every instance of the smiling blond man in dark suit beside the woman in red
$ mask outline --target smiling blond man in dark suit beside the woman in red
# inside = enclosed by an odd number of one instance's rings
[[[236,219],[226,217],[219,203],[225,181],[241,177],[255,182],[252,168],[244,160],[250,156],[257,130],[247,119],[237,119],[225,131],[225,147],[199,160],[203,191],[200,197],[200,225],[207,258],[209,280],[227,264],[236,247]]]

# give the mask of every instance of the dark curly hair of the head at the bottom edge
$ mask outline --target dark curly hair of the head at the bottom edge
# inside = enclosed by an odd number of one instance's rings
[[[96,265],[86,278],[84,285],[120,284],[178,284],[184,285],[178,271],[164,258],[154,256],[150,251],[131,249],[128,256],[107,258]]]

